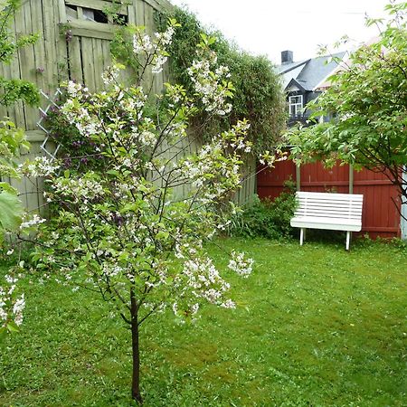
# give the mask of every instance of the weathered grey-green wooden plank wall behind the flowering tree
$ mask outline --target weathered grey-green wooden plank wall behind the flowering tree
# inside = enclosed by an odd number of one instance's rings
[[[112,0],[23,1],[14,16],[14,36],[38,33],[40,38],[33,45],[22,48],[10,65],[0,64],[0,76],[30,80],[50,95],[64,80],[77,80],[90,90],[99,90],[101,74],[111,64],[109,43],[118,27],[105,11],[106,7],[118,3]],[[123,24],[146,26],[147,33],[154,32],[156,11],[172,7],[167,0],[128,0],[122,3],[115,12]],[[147,81],[152,79],[150,72],[148,75]],[[167,67],[160,75],[155,75],[153,90],[156,93],[163,89],[167,78]],[[43,100],[43,108],[46,103],[48,100]],[[37,127],[38,109],[18,102],[10,108],[0,107],[0,117],[9,117],[26,130],[32,143],[31,156],[41,154],[45,135]],[[254,163],[247,169],[253,175]],[[30,210],[43,204],[42,197],[35,192],[40,184],[38,180],[32,181],[13,182],[24,195],[24,204]],[[254,184],[253,176],[249,176],[237,194],[239,203],[246,202],[254,194]]]

